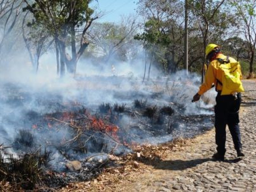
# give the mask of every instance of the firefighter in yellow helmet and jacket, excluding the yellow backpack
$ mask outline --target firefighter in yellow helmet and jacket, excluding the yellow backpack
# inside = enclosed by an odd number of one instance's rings
[[[239,129],[239,108],[241,104],[241,93],[234,93],[229,95],[221,95],[222,90],[222,73],[219,70],[221,65],[220,59],[225,60],[227,56],[220,52],[220,48],[216,44],[208,44],[206,49],[206,58],[210,61],[208,69],[204,77],[204,83],[200,86],[199,91],[193,97],[194,101],[198,101],[204,92],[208,91],[212,84],[215,85],[216,91],[216,105],[214,106],[215,113],[215,140],[217,144],[217,153],[212,157],[217,160],[223,160],[225,156],[225,142],[226,142],[226,125],[228,125],[231,133],[237,156],[244,156],[242,153],[241,136]],[[230,62],[236,62],[235,59],[228,57]],[[240,70],[239,70],[240,71]],[[240,71],[240,78],[242,74]]]

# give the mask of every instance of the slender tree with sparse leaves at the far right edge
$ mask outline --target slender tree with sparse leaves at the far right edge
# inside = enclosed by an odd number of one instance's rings
[[[232,5],[236,8],[237,15],[240,17],[240,28],[242,29],[244,38],[249,42],[250,51],[250,69],[248,78],[252,78],[253,60],[256,45],[256,0],[232,1]]]

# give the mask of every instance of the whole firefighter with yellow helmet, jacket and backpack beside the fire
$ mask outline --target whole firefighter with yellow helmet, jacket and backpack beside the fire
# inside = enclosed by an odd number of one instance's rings
[[[218,92],[214,107],[217,153],[212,157],[217,160],[224,159],[226,152],[226,125],[228,125],[231,133],[237,156],[244,156],[238,125],[241,104],[240,92],[244,91],[240,81],[242,79],[240,65],[235,59],[223,55],[216,44],[207,45],[205,53],[206,59],[210,63],[204,76],[204,83],[194,95],[193,101],[198,101],[200,96],[212,87],[212,84],[215,85]]]

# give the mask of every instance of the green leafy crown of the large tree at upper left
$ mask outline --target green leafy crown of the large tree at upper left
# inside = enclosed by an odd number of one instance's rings
[[[44,26],[52,35],[65,35],[73,26],[80,27],[90,19],[93,13],[89,7],[91,1],[40,0],[28,4],[23,11],[32,12],[35,17],[34,24]]]

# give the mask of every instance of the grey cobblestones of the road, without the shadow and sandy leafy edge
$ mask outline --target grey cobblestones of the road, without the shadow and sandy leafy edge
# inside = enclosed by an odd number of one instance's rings
[[[212,161],[209,151],[215,152],[214,134],[202,141],[192,153],[191,160],[199,161],[192,169],[180,171],[172,180],[162,180],[158,189],[148,191],[256,191],[256,86],[255,81],[244,81],[245,92],[240,115],[240,129],[245,157],[236,158],[232,138],[227,129],[227,153],[223,162]],[[213,145],[206,145],[205,143]],[[205,144],[205,145],[204,145]],[[202,157],[200,164],[200,159]],[[192,160],[193,162],[193,160]],[[160,187],[161,186],[161,187]]]

